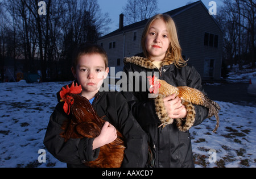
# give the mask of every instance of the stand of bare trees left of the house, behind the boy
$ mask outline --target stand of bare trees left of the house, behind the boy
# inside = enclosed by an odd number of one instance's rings
[[[43,2],[45,14],[38,12],[39,0],[0,0],[1,76],[8,55],[24,59],[25,73],[40,70],[42,81],[57,80],[60,72],[63,80],[71,80],[65,74],[70,71],[73,48],[94,43],[108,30],[109,15],[101,13],[97,0]]]

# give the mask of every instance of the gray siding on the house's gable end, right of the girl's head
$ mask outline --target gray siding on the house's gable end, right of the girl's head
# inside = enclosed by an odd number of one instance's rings
[[[216,22],[201,3],[174,17],[179,34],[183,55],[189,59],[188,64],[195,66],[201,77],[204,76],[205,59],[214,59],[214,76],[216,80],[221,76],[222,41],[223,36]],[[218,48],[204,45],[205,32],[218,35]]]

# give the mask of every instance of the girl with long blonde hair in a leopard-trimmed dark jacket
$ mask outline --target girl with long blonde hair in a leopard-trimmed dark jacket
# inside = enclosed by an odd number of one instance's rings
[[[160,80],[165,80],[173,86],[189,86],[203,90],[200,74],[193,67],[186,66],[181,57],[181,48],[177,38],[174,20],[169,15],[157,14],[153,16],[142,34],[143,53],[134,57],[125,58],[123,72],[158,73]],[[135,79],[140,86],[146,83],[145,78]],[[130,79],[131,81],[131,79]],[[129,89],[129,84],[127,83]],[[135,86],[135,85],[133,85]],[[134,91],[134,92],[133,92]],[[170,118],[187,118],[188,113],[195,115],[196,126],[208,116],[208,109],[202,106],[191,105],[186,108],[179,97],[170,95],[160,101],[148,98],[148,91],[123,92],[135,118],[149,135],[152,151],[151,167],[193,167],[191,137],[188,131],[181,132],[175,122],[162,128],[159,116],[156,114],[155,103],[164,106],[165,113]]]

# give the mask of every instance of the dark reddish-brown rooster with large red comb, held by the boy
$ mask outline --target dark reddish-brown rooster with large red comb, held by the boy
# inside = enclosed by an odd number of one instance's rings
[[[81,91],[81,85],[75,86],[74,82],[71,88],[67,85],[60,91],[60,102],[64,102],[63,110],[68,115],[68,119],[61,126],[63,132],[60,134],[65,142],[70,138],[96,138],[105,123],[105,120],[96,114],[88,99],[80,95]],[[100,148],[96,160],[88,161],[85,165],[91,168],[119,168],[125,146],[122,134],[117,131],[117,136],[112,143]]]

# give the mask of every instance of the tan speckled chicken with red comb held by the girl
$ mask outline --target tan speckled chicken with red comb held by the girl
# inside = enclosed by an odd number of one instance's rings
[[[162,94],[164,97],[175,94],[175,97],[178,96],[183,102],[190,102],[195,105],[201,105],[201,106],[207,107],[209,109],[207,118],[210,118],[213,115],[215,115],[216,117],[217,123],[213,132],[217,131],[218,126],[220,124],[220,119],[218,117],[218,110],[221,109],[218,103],[212,101],[207,96],[205,96],[200,90],[197,90],[195,88],[190,88],[188,86],[175,87],[168,84],[164,80],[159,80],[155,76],[153,77],[149,76],[147,78],[150,84],[150,89],[149,89],[150,93]],[[162,122],[162,125],[165,126],[164,123],[166,122],[163,122],[162,119],[160,120]],[[181,119],[177,119],[177,120],[181,120]],[[180,123],[180,121],[178,121],[178,123]]]

